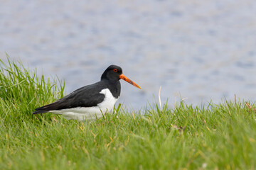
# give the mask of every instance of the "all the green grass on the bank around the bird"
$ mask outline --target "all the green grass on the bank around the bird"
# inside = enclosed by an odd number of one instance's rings
[[[94,122],[31,115],[63,96],[55,79],[1,62],[0,169],[256,169],[255,103],[118,107]]]

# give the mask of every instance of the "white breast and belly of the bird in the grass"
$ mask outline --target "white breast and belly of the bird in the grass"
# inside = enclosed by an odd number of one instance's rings
[[[114,108],[114,103],[117,102],[118,98],[114,98],[109,89],[102,89],[100,94],[104,94],[105,98],[104,101],[97,104],[97,106],[89,108],[68,108],[60,111],[50,111],[50,113],[63,115],[64,118],[68,120],[94,120],[96,118],[101,118],[103,114],[107,113],[107,111],[111,111],[112,108]]]

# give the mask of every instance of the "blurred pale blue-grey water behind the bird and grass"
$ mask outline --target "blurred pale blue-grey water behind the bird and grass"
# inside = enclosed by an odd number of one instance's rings
[[[67,94],[100,79],[110,64],[119,99],[139,109],[186,98],[255,101],[256,1],[0,1],[0,57],[65,79]]]

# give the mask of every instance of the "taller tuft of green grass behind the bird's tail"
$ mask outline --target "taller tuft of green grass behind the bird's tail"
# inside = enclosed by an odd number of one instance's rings
[[[4,125],[18,125],[34,120],[31,113],[63,96],[64,86],[55,79],[38,77],[36,71],[24,67],[7,56],[7,63],[0,60],[0,121]]]

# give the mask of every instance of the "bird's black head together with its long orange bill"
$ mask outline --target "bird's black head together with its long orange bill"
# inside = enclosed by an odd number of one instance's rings
[[[142,89],[132,80],[125,77],[124,74],[122,74],[122,68],[117,65],[110,65],[110,67],[107,67],[107,69],[105,70],[105,72],[102,74],[102,77],[101,77],[101,80],[104,80],[104,79],[112,80],[112,81],[119,81],[119,79],[123,79],[124,81],[127,81],[129,84],[132,84],[137,88]]]

